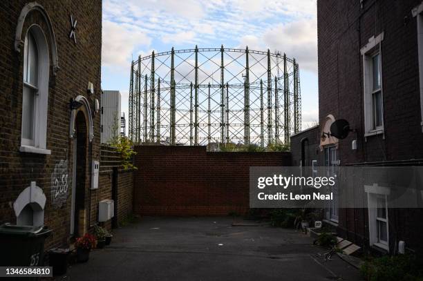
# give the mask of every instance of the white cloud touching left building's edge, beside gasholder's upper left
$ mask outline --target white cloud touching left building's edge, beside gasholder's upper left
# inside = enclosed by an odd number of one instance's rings
[[[102,65],[126,69],[135,46],[148,47],[151,43],[151,38],[135,26],[113,21],[103,21],[102,40]]]

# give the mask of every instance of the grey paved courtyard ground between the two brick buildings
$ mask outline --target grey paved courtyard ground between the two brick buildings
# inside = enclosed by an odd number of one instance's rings
[[[241,224],[241,225],[237,225]],[[360,280],[292,229],[232,217],[142,217],[57,280]]]

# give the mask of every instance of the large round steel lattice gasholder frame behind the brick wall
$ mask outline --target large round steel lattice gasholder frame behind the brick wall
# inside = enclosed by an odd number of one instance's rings
[[[132,61],[135,143],[267,146],[300,130],[299,66],[285,54],[196,46]]]

